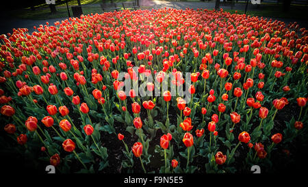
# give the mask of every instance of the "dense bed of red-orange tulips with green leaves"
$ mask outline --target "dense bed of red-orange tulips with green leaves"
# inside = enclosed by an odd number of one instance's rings
[[[308,31],[296,23],[123,10],[0,41],[1,149],[58,173],[270,171],[307,142]],[[123,89],[121,72],[153,95]]]

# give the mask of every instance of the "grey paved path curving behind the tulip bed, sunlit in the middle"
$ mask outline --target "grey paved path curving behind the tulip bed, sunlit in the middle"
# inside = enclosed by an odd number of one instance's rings
[[[197,8],[207,8],[213,9],[215,7],[215,1],[157,1],[157,0],[140,0],[141,8],[146,9],[159,9],[159,8],[176,8],[176,9],[185,9],[185,8],[193,8],[196,10]],[[221,6],[221,8],[228,8],[227,6]],[[261,7],[260,7],[261,8]],[[244,3],[236,3],[235,10],[245,10]],[[248,10],[255,10],[257,8],[255,5],[248,4]],[[18,18],[10,18],[6,16],[5,12],[0,12],[0,34],[1,33],[9,33],[12,32],[13,28],[28,28],[29,33],[34,31],[33,27],[38,27],[39,25],[46,25],[48,21],[50,24],[55,23],[56,21],[65,20],[66,18],[54,18],[54,19],[47,19],[47,20],[29,20],[29,19],[18,19]],[[284,21],[285,23],[290,23],[297,21],[300,24],[300,27],[308,28],[307,20],[296,20],[296,19],[287,19],[287,18],[274,18]]]

